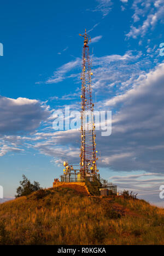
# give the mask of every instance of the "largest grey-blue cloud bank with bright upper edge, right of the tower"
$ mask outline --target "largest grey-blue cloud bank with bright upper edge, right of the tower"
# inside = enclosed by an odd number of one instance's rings
[[[155,70],[136,79],[133,88],[126,93],[105,102],[109,109],[120,106],[120,111],[113,116],[109,137],[112,149],[106,150],[132,154],[124,161],[112,162],[116,169],[163,172],[163,79],[164,64],[159,64]]]

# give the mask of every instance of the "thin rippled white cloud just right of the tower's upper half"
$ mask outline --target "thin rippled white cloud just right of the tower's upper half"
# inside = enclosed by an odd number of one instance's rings
[[[124,55],[113,54],[100,58],[92,56],[92,86],[94,90],[98,90],[97,93],[107,97],[113,86],[115,86],[116,92],[130,87],[133,80],[143,72],[141,69],[148,68],[150,65],[148,59],[142,60],[141,57],[141,52],[131,51]]]

